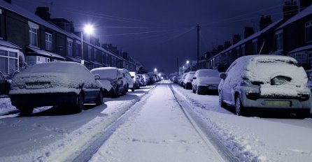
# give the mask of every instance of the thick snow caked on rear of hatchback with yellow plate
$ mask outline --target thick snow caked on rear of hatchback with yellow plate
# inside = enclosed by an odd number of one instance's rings
[[[250,56],[244,62],[242,78],[257,82],[262,96],[298,96],[309,94],[306,87],[308,78],[304,68],[298,67],[297,61],[283,56]]]

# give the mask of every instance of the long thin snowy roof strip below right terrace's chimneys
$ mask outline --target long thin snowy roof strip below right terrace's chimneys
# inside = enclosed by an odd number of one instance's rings
[[[277,20],[276,22],[273,22],[272,24],[270,24],[268,27],[262,29],[261,31],[257,31],[255,34],[248,36],[247,38],[244,38],[242,40],[240,40],[238,43],[230,46],[229,48],[227,48],[226,50],[223,50],[220,53],[225,53],[228,52],[229,50],[232,50],[236,47],[238,47],[239,45],[242,45],[243,43],[248,42],[249,40],[253,40],[254,38],[257,38],[258,36],[260,36],[261,34],[264,34],[266,31],[268,31],[269,29],[271,29],[272,27],[275,27],[276,24],[280,23],[281,21],[283,21],[283,19]],[[218,55],[218,54],[217,54]],[[216,56],[216,55],[215,55]]]

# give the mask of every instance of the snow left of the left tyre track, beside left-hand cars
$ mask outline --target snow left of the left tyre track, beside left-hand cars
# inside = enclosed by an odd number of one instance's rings
[[[46,110],[31,117],[0,120],[0,161],[66,161],[92,142],[120,115],[153,89],[144,87],[78,114]],[[9,104],[8,104],[9,105]],[[61,130],[61,131],[58,131]],[[14,132],[14,133],[12,133]],[[8,136],[8,134],[12,135]]]

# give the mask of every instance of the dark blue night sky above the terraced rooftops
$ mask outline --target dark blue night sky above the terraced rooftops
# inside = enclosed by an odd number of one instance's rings
[[[197,59],[197,30],[200,29],[200,56],[232,34],[243,35],[243,27],[259,30],[261,15],[280,19],[281,0],[12,0],[32,13],[37,6],[50,8],[52,18],[96,27],[101,43],[112,43],[129,52],[148,71],[176,71],[187,59]]]

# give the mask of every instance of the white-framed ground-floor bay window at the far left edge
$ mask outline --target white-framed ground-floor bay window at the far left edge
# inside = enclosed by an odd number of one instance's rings
[[[0,49],[0,71],[6,75],[18,69],[18,54],[9,50]]]

